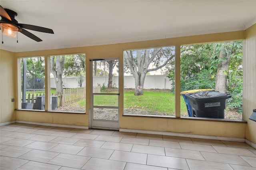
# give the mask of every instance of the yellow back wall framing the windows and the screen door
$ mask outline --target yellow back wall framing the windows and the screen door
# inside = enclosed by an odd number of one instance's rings
[[[152,118],[152,117],[132,117],[122,116],[123,113],[123,51],[127,49],[140,49],[150,47],[162,47],[176,45],[176,70],[180,70],[179,63],[179,47],[180,45],[206,42],[220,42],[231,40],[242,40],[245,38],[245,32],[227,32],[220,34],[208,34],[200,36],[189,36],[180,38],[169,38],[162,40],[151,40],[144,42],[120,43],[112,45],[99,45],[90,47],[77,47],[69,49],[52,49],[42,51],[28,51],[14,53],[14,60],[19,57],[33,57],[58,55],[58,54],[72,54],[72,53],[86,53],[86,94],[90,94],[90,59],[97,58],[119,58],[119,87],[120,87],[120,128],[140,129],[140,130],[154,130],[166,132],[181,132],[189,134],[203,134],[213,136],[228,136],[228,137],[245,137],[246,123],[226,122],[226,121],[203,121],[191,119],[175,119],[175,118]],[[2,54],[1,54],[2,55]],[[47,62],[46,62],[47,63]],[[15,68],[13,69],[15,70]],[[17,83],[17,71],[13,74]],[[179,71],[176,71],[176,77],[179,77]],[[47,78],[46,78],[47,79]],[[176,79],[176,91],[179,91],[180,80]],[[8,88],[8,87],[5,87]],[[46,85],[46,90],[49,87]],[[1,87],[2,89],[2,87]],[[10,91],[15,91],[11,89]],[[16,95],[18,98],[18,95]],[[2,99],[1,99],[2,100]],[[180,94],[176,93],[176,117],[180,117]],[[18,105],[17,105],[18,106]],[[57,123],[68,125],[89,125],[90,109],[90,95],[86,96],[86,115],[75,115],[68,113],[50,113],[39,111],[16,111],[16,120],[35,121],[44,123]],[[10,111],[9,111],[10,112]],[[255,130],[252,129],[252,130]]]

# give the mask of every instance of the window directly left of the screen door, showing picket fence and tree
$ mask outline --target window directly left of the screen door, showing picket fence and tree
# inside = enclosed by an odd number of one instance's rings
[[[85,54],[50,56],[52,111],[86,111],[85,74]]]

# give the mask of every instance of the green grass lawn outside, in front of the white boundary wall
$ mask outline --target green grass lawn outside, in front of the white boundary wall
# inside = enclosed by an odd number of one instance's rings
[[[85,105],[85,100],[78,102],[80,106]],[[98,95],[94,96],[94,105],[118,106],[117,95]],[[187,115],[186,103],[183,97],[180,97],[181,114]],[[140,109],[150,113],[166,113],[174,115],[175,99],[174,94],[170,92],[144,91],[142,96],[134,96],[134,91],[124,93],[124,109]]]

